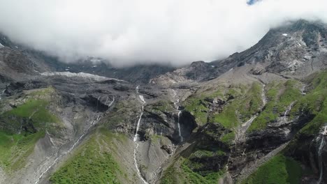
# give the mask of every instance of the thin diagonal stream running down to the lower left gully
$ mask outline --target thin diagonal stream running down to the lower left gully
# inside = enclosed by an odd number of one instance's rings
[[[114,101],[115,101],[115,97],[112,99],[112,102],[110,102],[110,106],[112,105],[112,103]],[[38,176],[38,178],[35,181],[35,184],[38,184],[38,182],[40,182],[40,180],[43,177],[43,175],[46,174],[54,166],[54,164],[57,164],[57,162],[58,162],[58,160],[60,158],[62,158],[64,155],[67,155],[68,153],[71,153],[71,151],[73,151],[73,148],[75,148],[75,146],[77,146],[80,143],[80,141],[82,140],[82,138],[85,137],[85,135],[87,135],[87,132],[89,132],[89,129],[92,128],[96,123],[98,123],[98,121],[99,121],[100,118],[101,118],[100,115],[96,116],[96,118],[92,121],[91,125],[89,125],[89,127],[86,130],[84,130],[84,132],[82,133],[82,135],[80,137],[78,137],[78,139],[71,146],[71,148],[69,148],[68,151],[66,151],[64,153],[61,153],[56,159],[54,159],[54,161],[52,162],[52,164],[50,164],[50,166],[47,167],[47,169],[45,169],[45,171],[43,171],[40,176]]]

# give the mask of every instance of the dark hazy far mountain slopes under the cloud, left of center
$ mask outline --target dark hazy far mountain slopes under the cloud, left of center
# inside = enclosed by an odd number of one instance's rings
[[[146,84],[153,77],[175,70],[173,66],[158,64],[116,68],[101,58],[88,57],[73,63],[63,63],[55,56],[39,52],[27,46],[14,43],[0,34],[0,57],[3,61],[0,79],[10,81],[33,78],[41,72],[86,72],[104,77],[124,79],[137,84]],[[24,63],[25,62],[25,63]],[[3,76],[2,76],[3,75]],[[22,76],[21,76],[22,75]]]

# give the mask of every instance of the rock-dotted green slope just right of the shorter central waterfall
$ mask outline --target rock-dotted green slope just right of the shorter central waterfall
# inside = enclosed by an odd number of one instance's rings
[[[261,97],[262,85],[252,83],[231,86],[217,86],[207,91],[198,91],[184,102],[187,111],[195,116],[200,125],[205,123],[219,123],[230,130],[221,137],[225,144],[232,144],[235,139],[235,128],[249,120],[253,114],[260,111],[263,106]],[[213,99],[223,100],[221,110],[210,110]]]

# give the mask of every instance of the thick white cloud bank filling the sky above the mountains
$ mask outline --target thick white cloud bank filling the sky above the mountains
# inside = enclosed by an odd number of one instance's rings
[[[326,0],[0,0],[0,31],[66,62],[212,61],[286,20],[327,22]]]

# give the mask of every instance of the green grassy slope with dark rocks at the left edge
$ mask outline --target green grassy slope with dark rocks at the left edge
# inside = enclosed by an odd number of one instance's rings
[[[0,164],[5,171],[24,167],[38,139],[46,131],[54,132],[62,127],[59,118],[48,109],[54,93],[52,87],[25,91],[20,105],[0,114]]]

